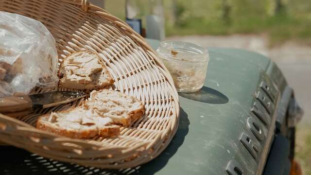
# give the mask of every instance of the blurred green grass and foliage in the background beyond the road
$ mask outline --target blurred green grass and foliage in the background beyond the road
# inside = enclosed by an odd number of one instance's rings
[[[145,1],[145,0],[142,0]],[[163,0],[166,34],[267,34],[272,46],[294,39],[311,43],[311,0]],[[106,0],[124,19],[124,0]]]

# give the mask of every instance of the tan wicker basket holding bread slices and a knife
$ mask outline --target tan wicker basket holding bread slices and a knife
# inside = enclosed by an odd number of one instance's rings
[[[59,137],[34,127],[38,116],[83,100],[33,110],[17,119],[0,114],[1,141],[43,157],[112,169],[148,162],[166,148],[178,125],[178,94],[155,52],[127,24],[87,0],[0,0],[0,11],[44,23],[56,40],[59,62],[81,50],[99,53],[115,81],[110,88],[136,96],[146,108],[143,118],[121,128],[120,136],[92,140]],[[35,88],[32,93],[55,89]]]

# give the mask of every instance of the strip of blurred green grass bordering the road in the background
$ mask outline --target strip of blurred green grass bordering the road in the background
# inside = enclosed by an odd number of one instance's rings
[[[171,35],[231,35],[267,34],[270,46],[287,40],[298,40],[311,44],[311,22],[286,16],[269,18],[248,17],[226,24],[221,20],[191,18],[183,26],[167,26],[166,34]]]

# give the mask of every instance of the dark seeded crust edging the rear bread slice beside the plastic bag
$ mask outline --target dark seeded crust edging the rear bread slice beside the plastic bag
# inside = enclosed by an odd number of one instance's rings
[[[62,83],[64,76],[66,76],[66,72],[64,70],[65,67],[65,60],[74,57],[76,55],[79,55],[80,53],[88,53],[88,54],[92,54],[92,55],[96,55],[98,62],[102,65],[103,70],[101,71],[101,73],[104,73],[107,78],[104,80],[106,81],[106,83],[104,83],[102,86],[98,84],[98,82],[91,82],[91,83],[83,83],[83,82],[72,82],[72,83],[67,83],[64,84]],[[58,86],[62,87],[62,88],[74,88],[74,89],[82,89],[82,90],[100,90],[103,89],[109,85],[112,85],[114,80],[111,76],[111,74],[109,73],[109,70],[107,69],[107,67],[105,66],[102,58],[94,52],[91,51],[82,51],[82,52],[76,52],[76,53],[71,53],[69,54],[66,58],[63,59],[63,61],[60,63],[59,66],[59,70],[57,72],[57,76],[59,77],[59,81],[58,81]]]

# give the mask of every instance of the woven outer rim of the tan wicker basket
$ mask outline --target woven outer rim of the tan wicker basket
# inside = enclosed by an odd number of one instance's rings
[[[77,139],[70,139],[70,138],[66,138],[66,137],[56,136],[52,133],[42,131],[42,130],[38,130],[34,126],[27,124],[25,122],[22,122],[22,121],[19,121],[17,119],[14,119],[14,118],[0,114],[0,133],[2,133],[3,135],[6,134],[8,136],[8,137],[0,137],[0,140],[5,142],[5,143],[17,146],[17,147],[21,147],[21,148],[26,149],[28,151],[38,153],[39,155],[42,155],[44,157],[55,158],[55,159],[62,160],[65,162],[74,162],[74,163],[85,165],[85,166],[94,166],[94,161],[91,161],[89,159],[86,160],[85,158],[83,158],[85,156],[84,154],[74,155],[74,156],[76,156],[76,157],[74,157],[75,158],[74,161],[72,161],[71,158],[56,157],[55,154],[57,155],[57,153],[53,153],[52,150],[45,150],[44,144],[49,142],[51,144],[52,143],[59,143],[59,144],[61,144],[61,143],[72,143],[73,145],[74,144],[85,145],[86,147],[89,147],[89,148],[94,147],[94,149],[97,150],[97,153],[101,153],[101,152],[107,153],[110,151],[111,155],[113,155],[113,157],[117,157],[117,156],[121,155],[120,157],[128,158],[128,157],[133,156],[133,155],[135,156],[138,153],[140,155],[140,157],[135,157],[133,160],[127,161],[125,163],[113,164],[114,161],[112,158],[112,159],[110,159],[110,162],[112,162],[112,164],[109,163],[109,159],[107,159],[104,161],[106,163],[101,162],[101,164],[99,163],[98,166],[95,165],[96,167],[101,167],[101,168],[119,169],[119,168],[134,167],[134,166],[140,165],[142,163],[145,163],[145,162],[148,162],[148,161],[154,159],[170,143],[170,141],[172,140],[174,134],[176,133],[177,127],[178,127],[179,97],[178,97],[178,93],[176,91],[176,88],[174,87],[173,78],[172,78],[171,74],[166,69],[166,67],[163,65],[163,63],[159,60],[158,56],[156,56],[157,54],[155,53],[155,51],[149,46],[148,43],[146,43],[144,38],[142,36],[138,35],[128,24],[126,24],[121,19],[114,17],[114,16],[110,15],[107,11],[105,11],[104,9],[89,3],[88,0],[59,0],[59,2],[79,6],[79,7],[81,7],[81,9],[85,13],[90,13],[91,15],[99,16],[100,18],[108,18],[110,21],[113,21],[114,25],[116,25],[116,24],[120,25],[120,29],[129,33],[130,38],[135,40],[138,44],[140,44],[144,48],[144,50],[149,51],[149,53],[153,56],[153,59],[155,60],[156,65],[158,65],[162,69],[161,72],[165,76],[166,81],[171,86],[170,88],[172,88],[173,93],[171,95],[172,95],[172,98],[174,101],[174,103],[172,104],[172,105],[174,105],[173,106],[174,110],[173,110],[172,116],[174,116],[174,118],[169,121],[168,127],[164,131],[160,132],[159,134],[156,134],[156,138],[153,140],[153,142],[149,143],[148,145],[142,144],[140,146],[133,147],[133,148],[121,148],[121,147],[118,148],[116,146],[111,146],[111,145],[105,145],[105,146],[100,145],[100,144],[98,144],[97,141],[93,141],[93,140],[77,140]],[[151,85],[151,86],[153,86],[153,85]],[[45,139],[43,139],[45,143],[42,144],[43,149],[38,150],[37,148],[28,147],[27,145],[23,145],[23,140],[21,140],[21,141],[10,140],[10,138],[12,139],[12,137],[15,137],[15,136],[10,135],[10,134],[12,134],[12,131],[7,132],[5,126],[3,126],[4,128],[3,127],[1,128],[1,123],[6,123],[7,125],[15,126],[19,131],[25,131],[25,132],[27,131],[27,133],[29,133],[31,131],[34,138],[38,135],[40,135],[41,138],[45,138]],[[42,139],[41,139],[41,141],[42,141]],[[158,144],[158,150],[155,151],[154,146],[155,146],[156,142],[157,143],[161,142],[161,144]],[[38,142],[37,144],[41,144],[41,143]],[[73,147],[75,147],[75,146],[76,145],[74,145]],[[91,151],[89,151],[89,152],[91,152]],[[95,154],[95,153],[92,153],[92,154]],[[89,156],[86,156],[86,157],[89,157]],[[120,159],[120,157],[119,157],[119,159]]]

